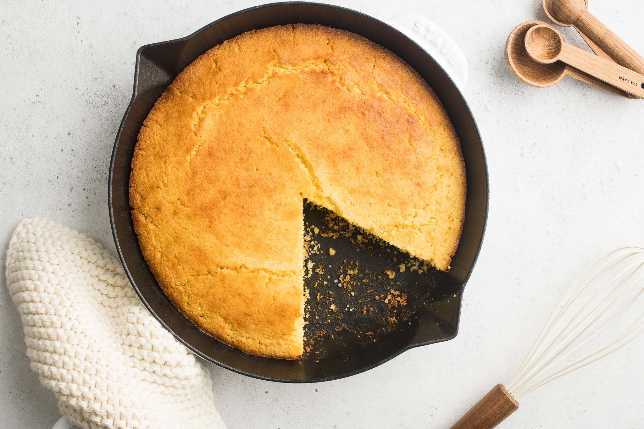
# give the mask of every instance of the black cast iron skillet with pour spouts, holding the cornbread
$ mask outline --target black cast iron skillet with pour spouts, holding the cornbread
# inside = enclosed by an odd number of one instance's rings
[[[354,285],[352,290],[355,297],[342,293],[346,292],[345,289],[336,288],[341,293],[336,291],[338,298],[334,303],[343,312],[332,313],[336,318],[330,320],[329,316],[330,324],[327,325],[329,302],[319,302],[314,296],[318,292],[327,295],[328,291],[314,289],[312,279],[316,275],[307,279],[306,285],[312,296],[309,300],[312,306],[310,313],[319,315],[317,320],[324,321],[316,323],[312,322],[314,318],[308,318],[310,323],[305,334],[308,338],[316,338],[316,343],[311,345],[312,351],[301,360],[286,361],[252,356],[223,345],[202,333],[176,311],[156,283],[138,247],[130,217],[128,182],[138,130],[156,99],[185,66],[216,44],[240,33],[295,23],[322,24],[363,35],[393,51],[420,73],[439,96],[459,135],[466,164],[468,196],[462,237],[448,273],[431,269],[422,274],[409,270],[405,273],[396,271],[396,284],[386,276],[378,278],[374,274],[370,286],[360,288]],[[143,304],[177,340],[205,360],[256,378],[315,382],[351,376],[380,365],[412,347],[451,340],[458,332],[462,291],[480,250],[487,214],[486,159],[468,104],[454,82],[430,55],[408,37],[373,17],[316,3],[274,3],[228,15],[183,39],[149,44],[137,52],[133,96],[118,129],[109,169],[112,232],[118,256]],[[321,229],[325,228],[324,215],[321,210],[305,208],[305,220]],[[401,263],[399,258],[406,258],[398,255],[396,260],[392,260],[393,253],[378,246],[360,251],[355,237],[356,233],[339,239],[317,236],[322,251],[319,255],[313,255],[314,262],[325,264],[325,267],[330,264],[338,272],[341,272],[341,266],[359,262],[361,267],[371,269],[372,273],[382,273],[387,268],[397,270],[397,264]],[[326,251],[331,246],[337,252],[335,257],[329,257]],[[327,259],[323,255],[327,255]],[[388,309],[383,304],[383,297],[380,301],[374,301],[374,296],[388,293],[390,288],[406,293],[408,305]],[[360,305],[365,300],[365,307],[375,307],[374,315],[371,315],[371,311],[360,317],[354,316],[359,315],[359,311],[349,313],[348,306],[357,306],[358,299]],[[339,324],[338,314],[340,318],[344,315],[341,323],[344,326],[343,329],[334,330],[333,327]],[[398,323],[388,324],[390,316],[395,316]],[[327,334],[316,336],[320,331]]]

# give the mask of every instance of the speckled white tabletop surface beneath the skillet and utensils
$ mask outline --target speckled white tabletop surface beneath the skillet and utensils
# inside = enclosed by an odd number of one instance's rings
[[[218,408],[237,428],[446,428],[507,381],[569,282],[596,255],[644,243],[644,102],[567,78],[523,86],[507,34],[544,19],[536,0],[343,1],[386,18],[426,15],[469,60],[466,98],[490,173],[488,230],[460,334],[364,374],[317,385],[258,381],[211,366]],[[113,249],[108,163],[143,44],[182,37],[255,1],[0,5],[0,247],[26,216],[77,228]],[[591,12],[644,53],[644,2],[591,0]],[[581,45],[570,28],[568,41]],[[25,357],[0,280],[0,426],[48,428],[53,394]],[[644,338],[524,397],[504,428],[641,428]]]

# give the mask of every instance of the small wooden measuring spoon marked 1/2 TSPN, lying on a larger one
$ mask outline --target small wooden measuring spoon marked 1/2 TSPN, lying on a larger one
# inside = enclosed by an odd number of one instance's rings
[[[644,76],[567,44],[548,24],[538,24],[527,30],[525,43],[528,55],[537,62],[561,61],[630,94],[644,96]]]

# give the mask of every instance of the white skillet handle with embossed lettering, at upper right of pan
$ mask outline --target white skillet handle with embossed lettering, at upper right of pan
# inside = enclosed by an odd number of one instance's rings
[[[462,91],[468,82],[468,60],[459,45],[437,24],[415,14],[397,15],[385,22],[426,50]]]

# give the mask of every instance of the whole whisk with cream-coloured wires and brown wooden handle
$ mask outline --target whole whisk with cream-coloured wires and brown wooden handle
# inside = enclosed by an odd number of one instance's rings
[[[506,385],[498,384],[451,429],[489,429],[519,407],[518,399],[620,349],[644,331],[644,248],[623,247],[574,280]]]

